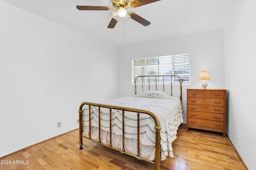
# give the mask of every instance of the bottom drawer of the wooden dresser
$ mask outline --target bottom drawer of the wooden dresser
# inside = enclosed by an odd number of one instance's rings
[[[188,124],[204,126],[204,127],[214,127],[218,129],[223,129],[224,127],[224,123],[222,121],[212,121],[212,120],[194,119],[194,118],[188,118]]]

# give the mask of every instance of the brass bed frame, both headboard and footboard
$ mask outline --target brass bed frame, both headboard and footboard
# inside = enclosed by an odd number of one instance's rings
[[[157,90],[157,83],[162,83],[163,84],[163,91],[164,91],[164,86],[165,86],[165,83],[164,83],[164,78],[166,77],[169,77],[171,78],[171,96],[172,96],[172,77],[178,77],[179,79],[179,82],[180,82],[180,100],[182,100],[182,79],[180,76],[178,76],[177,74],[164,74],[164,75],[140,75],[140,76],[137,76],[134,80],[134,85],[135,85],[135,94],[137,93],[137,80],[139,78],[142,78],[142,92],[143,92],[143,78],[148,78],[148,91],[150,91],[150,77],[153,77],[153,81],[155,81],[155,85],[156,85],[156,90]],[[161,81],[159,81],[159,78],[162,78]],[[83,135],[83,129],[82,129],[82,113],[83,113],[83,106],[84,105],[88,105],[89,107],[89,136],[84,136]],[[96,106],[98,107],[98,119],[99,119],[99,123],[98,123],[98,130],[99,130],[99,140],[95,140],[95,139],[92,139],[91,137],[91,106]],[[101,137],[100,137],[100,130],[101,130],[101,126],[100,126],[100,108],[108,108],[109,109],[109,119],[110,119],[110,131],[109,131],[109,134],[110,134],[110,144],[105,144],[105,143],[102,143],[101,142]],[[116,110],[121,110],[122,111],[122,149],[117,149],[117,148],[114,148],[112,147],[112,109],[116,109]],[[138,127],[140,127],[140,114],[143,113],[143,114],[147,114],[147,115],[150,115],[150,117],[152,117],[152,119],[154,120],[155,122],[155,130],[156,130],[156,141],[155,141],[155,159],[154,161],[151,161],[151,160],[148,160],[148,159],[145,159],[145,158],[142,158],[140,157],[140,143],[137,142],[137,155],[134,155],[134,154],[131,154],[131,153],[128,153],[124,150],[124,115],[125,115],[125,112],[126,111],[130,111],[130,112],[134,112],[134,114],[137,114],[137,125]],[[109,147],[109,148],[112,148],[114,150],[117,150],[117,151],[120,151],[121,153],[124,153],[124,154],[127,154],[127,155],[130,155],[130,156],[133,156],[135,158],[138,158],[140,160],[144,160],[146,162],[150,162],[150,163],[153,163],[155,164],[155,170],[159,170],[160,169],[160,130],[161,130],[161,126],[160,126],[160,122],[159,122],[159,119],[158,117],[148,111],[148,110],[142,110],[142,109],[135,109],[135,108],[129,108],[129,107],[120,107],[120,106],[110,106],[110,105],[105,105],[105,104],[96,104],[96,103],[91,103],[91,102],[83,102],[80,107],[79,107],[79,145],[80,145],[80,148],[79,149],[83,149],[82,145],[83,145],[83,138],[86,138],[86,139],[89,139],[91,141],[94,141],[96,143],[99,143],[101,145],[104,145],[106,147]],[[137,141],[140,141],[140,128],[137,127]]]

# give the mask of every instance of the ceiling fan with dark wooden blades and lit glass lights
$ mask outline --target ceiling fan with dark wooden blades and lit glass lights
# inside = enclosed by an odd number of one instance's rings
[[[111,13],[112,19],[108,24],[108,28],[114,28],[118,21],[123,21],[123,19],[126,21],[129,18],[132,18],[133,20],[137,21],[138,23],[144,26],[148,26],[150,25],[149,21],[138,16],[134,12],[127,12],[126,10],[128,8],[136,8],[156,1],[159,0],[112,0],[113,8],[109,6],[76,6],[76,8],[78,10],[114,10],[114,12]]]

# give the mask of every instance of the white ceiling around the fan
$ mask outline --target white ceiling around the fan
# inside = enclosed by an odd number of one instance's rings
[[[79,6],[110,6],[111,0],[3,0],[28,12],[116,46],[222,29],[237,0],[160,0],[129,8],[150,21],[132,20],[107,28],[112,11],[80,11]]]

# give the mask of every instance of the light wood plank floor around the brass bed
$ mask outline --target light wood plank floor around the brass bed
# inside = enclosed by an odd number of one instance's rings
[[[154,170],[154,164],[86,139],[83,140],[84,149],[79,150],[78,141],[78,130],[71,131],[0,159],[1,163],[5,163],[0,164],[0,169]],[[185,125],[182,125],[173,142],[173,150],[174,158],[161,161],[161,170],[242,170],[234,149],[221,133],[195,129],[186,131]],[[7,161],[11,164],[6,164]]]

